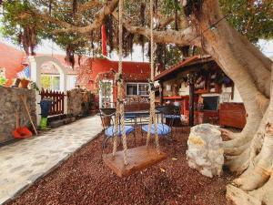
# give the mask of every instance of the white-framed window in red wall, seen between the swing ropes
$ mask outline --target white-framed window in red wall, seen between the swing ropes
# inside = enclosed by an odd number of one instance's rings
[[[149,85],[147,83],[126,83],[126,96],[136,95],[149,95]]]

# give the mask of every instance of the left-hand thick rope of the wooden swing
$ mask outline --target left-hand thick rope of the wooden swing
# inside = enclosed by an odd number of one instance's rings
[[[115,138],[114,138],[114,148],[113,156],[116,154],[116,144],[117,136],[119,130],[122,132],[122,144],[123,144],[123,154],[124,154],[124,163],[127,165],[127,145],[126,145],[126,132],[125,132],[125,119],[124,119],[124,101],[123,101],[123,80],[122,80],[122,44],[123,44],[123,26],[122,26],[122,17],[123,17],[123,0],[119,0],[118,4],[118,78],[116,79],[117,83],[117,101],[116,101],[116,120],[115,120]],[[119,119],[121,122],[121,128],[119,125]]]

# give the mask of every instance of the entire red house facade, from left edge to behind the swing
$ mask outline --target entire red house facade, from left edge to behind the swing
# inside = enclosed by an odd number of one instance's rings
[[[37,56],[46,56],[38,54]],[[97,97],[97,104],[100,107],[114,106],[116,102],[116,85],[114,82],[115,72],[118,69],[118,62],[106,58],[81,58],[81,66],[72,69],[66,64],[64,55],[54,55],[54,57],[66,67],[67,82],[66,89],[75,87],[86,87],[93,91]],[[78,60],[76,59],[76,62]],[[5,73],[8,83],[5,86],[12,85],[12,79],[17,77],[17,73],[22,71],[27,64],[25,52],[16,49],[13,46],[7,46],[0,43],[0,71]],[[58,90],[58,86],[53,82],[58,82],[58,72],[56,67],[49,61],[42,66],[43,77],[50,77],[50,87],[47,89]],[[149,63],[123,62],[123,79],[125,81],[125,97],[148,97],[148,78],[150,77]]]

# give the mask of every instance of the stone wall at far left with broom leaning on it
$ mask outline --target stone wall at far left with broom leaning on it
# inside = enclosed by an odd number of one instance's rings
[[[16,112],[20,118],[20,126],[31,128],[24,103],[20,96],[26,97],[26,104],[30,115],[34,123],[36,122],[34,89],[0,87],[0,143],[14,139],[12,132],[16,127]]]

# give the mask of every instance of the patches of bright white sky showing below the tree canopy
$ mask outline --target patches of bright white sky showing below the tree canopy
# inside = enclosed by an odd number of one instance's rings
[[[4,37],[0,36],[0,41],[10,45],[10,46],[15,46],[11,41],[8,39],[5,39]],[[266,55],[266,56],[273,56],[273,40],[266,41],[266,40],[259,40],[258,45],[261,48],[261,51]],[[18,49],[22,49],[18,46],[15,46]],[[40,45],[38,45],[35,49],[36,53],[39,54],[62,54],[66,55],[66,52],[62,50],[59,46],[57,46],[55,43],[52,43],[49,40],[43,40]],[[116,52],[113,52],[110,57],[108,57],[111,60],[118,60],[118,55]],[[134,52],[132,56],[127,56],[126,58],[123,58],[124,61],[136,61],[136,62],[142,62],[143,61],[143,56],[142,56],[142,48],[141,46],[134,46]],[[144,61],[148,61],[147,57],[144,57]]]

